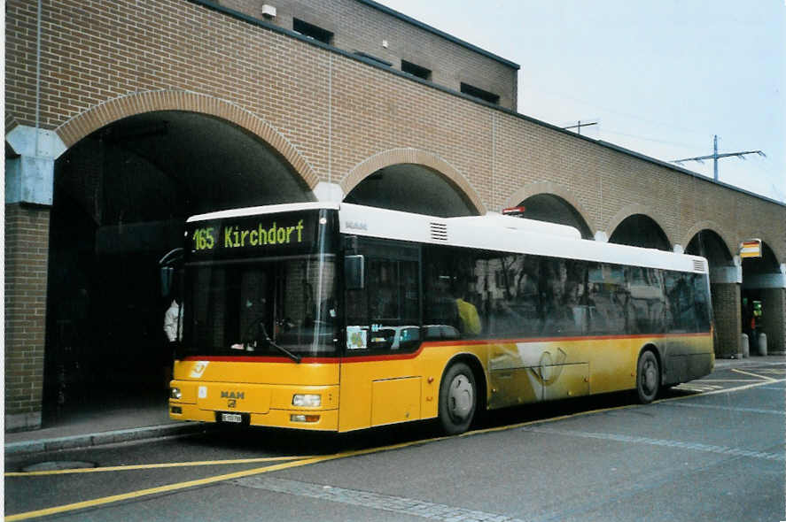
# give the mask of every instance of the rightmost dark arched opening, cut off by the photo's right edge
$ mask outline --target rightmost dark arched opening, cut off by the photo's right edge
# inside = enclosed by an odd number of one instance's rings
[[[748,334],[751,353],[759,348],[759,334],[767,336],[769,350],[782,350],[786,346],[786,275],[766,242],[761,243],[761,257],[743,258],[742,264],[743,333]]]

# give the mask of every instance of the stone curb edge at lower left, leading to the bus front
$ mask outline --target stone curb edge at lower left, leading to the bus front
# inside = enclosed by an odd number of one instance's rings
[[[59,449],[80,449],[92,446],[102,446],[116,442],[142,441],[144,439],[158,439],[175,435],[197,434],[206,432],[204,423],[195,424],[163,424],[159,426],[145,426],[102,432],[97,434],[72,435],[37,441],[11,442],[5,444],[5,456],[39,453],[42,451],[58,451]]]

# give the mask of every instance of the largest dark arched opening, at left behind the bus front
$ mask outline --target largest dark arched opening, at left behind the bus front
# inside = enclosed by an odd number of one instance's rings
[[[152,111],[89,134],[55,165],[44,423],[91,401],[166,397],[158,261],[193,214],[307,201],[306,183],[222,119]]]

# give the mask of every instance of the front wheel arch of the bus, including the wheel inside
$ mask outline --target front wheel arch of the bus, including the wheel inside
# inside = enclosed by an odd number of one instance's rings
[[[456,405],[456,398],[468,395],[470,404]],[[486,408],[486,377],[479,360],[469,354],[453,357],[442,372],[440,379],[439,412],[440,427],[447,434],[461,434]]]

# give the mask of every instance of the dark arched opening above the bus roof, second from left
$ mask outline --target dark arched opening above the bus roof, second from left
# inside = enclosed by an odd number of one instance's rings
[[[378,169],[355,185],[344,201],[443,218],[478,214],[447,177],[424,165],[406,163]]]

